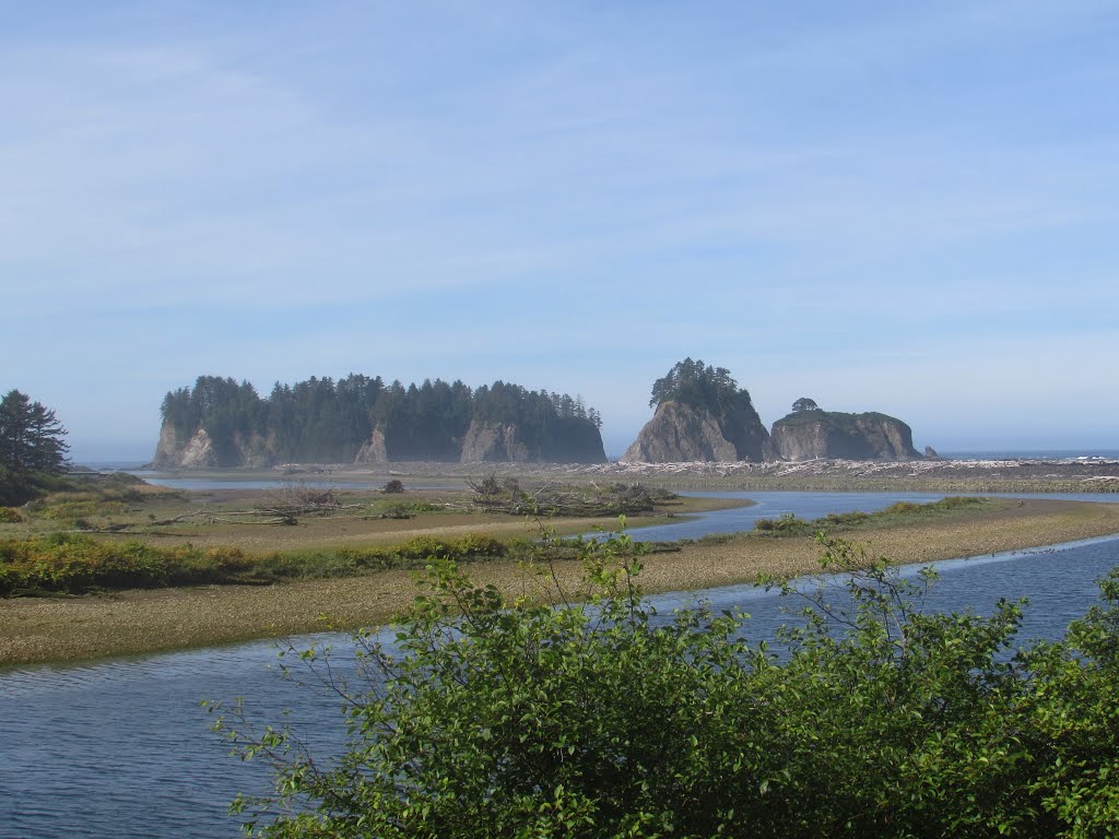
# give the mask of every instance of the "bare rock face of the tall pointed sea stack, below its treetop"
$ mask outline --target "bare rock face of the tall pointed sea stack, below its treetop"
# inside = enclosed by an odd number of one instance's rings
[[[621,460],[643,463],[760,461],[768,449],[769,434],[756,412],[737,412],[721,421],[705,408],[665,402]]]

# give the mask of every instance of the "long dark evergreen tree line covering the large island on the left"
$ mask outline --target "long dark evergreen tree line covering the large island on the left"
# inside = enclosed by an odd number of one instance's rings
[[[163,397],[161,416],[182,441],[205,430],[229,464],[237,461],[238,441],[266,445],[279,460],[352,461],[374,431],[384,435],[392,460],[455,460],[474,421],[516,425],[539,460],[587,460],[595,444],[592,459],[602,456],[601,416],[581,397],[500,380],[473,389],[460,380],[405,387],[379,376],[312,376],[294,385],[278,381],[262,398],[248,381],[199,376],[192,387]],[[581,456],[562,456],[573,454]]]

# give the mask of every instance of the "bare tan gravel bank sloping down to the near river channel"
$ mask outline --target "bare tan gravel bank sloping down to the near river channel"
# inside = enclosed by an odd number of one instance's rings
[[[866,543],[872,554],[896,563],[928,563],[1117,535],[1119,505],[1003,500],[979,511],[836,532]],[[649,593],[708,588],[750,583],[761,573],[810,573],[818,568],[818,559],[819,547],[808,537],[742,534],[647,556],[641,583]],[[487,563],[468,569],[478,582],[509,594],[542,592],[539,577],[517,565]],[[554,572],[560,585],[573,591],[582,568],[566,562],[556,564]],[[0,664],[77,661],[354,629],[389,621],[415,594],[412,572],[387,571],[273,586],[9,600],[0,602]]]

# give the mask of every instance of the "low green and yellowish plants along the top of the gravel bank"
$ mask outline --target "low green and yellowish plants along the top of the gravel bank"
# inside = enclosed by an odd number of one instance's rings
[[[814,521],[791,516],[775,520],[760,519],[755,536],[806,536],[821,529],[850,532],[979,509],[987,503],[986,499],[949,498],[929,505],[897,503],[876,513],[831,515]],[[718,537],[707,539],[714,540]],[[228,546],[204,548],[190,544],[164,547],[137,539],[116,541],[81,532],[55,532],[0,540],[0,596],[214,584],[265,585],[361,576],[393,568],[422,568],[431,557],[460,563],[545,562],[572,558],[579,549],[577,540],[540,543],[524,537],[500,540],[483,534],[468,534],[458,538],[422,535],[383,546],[252,552]],[[677,550],[678,547],[669,543],[660,544],[655,549]]]

